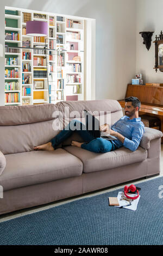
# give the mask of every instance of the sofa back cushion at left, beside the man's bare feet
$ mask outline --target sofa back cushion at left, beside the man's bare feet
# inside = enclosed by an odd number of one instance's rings
[[[32,151],[59,133],[53,104],[0,107],[0,150],[3,154]]]

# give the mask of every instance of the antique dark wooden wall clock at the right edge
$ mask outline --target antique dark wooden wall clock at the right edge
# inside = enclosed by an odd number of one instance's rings
[[[155,36],[155,66],[154,69],[157,72],[159,69],[163,72],[163,34],[162,31],[159,36]]]

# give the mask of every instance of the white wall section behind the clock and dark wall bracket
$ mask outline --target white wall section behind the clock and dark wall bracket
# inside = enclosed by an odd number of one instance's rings
[[[136,0],[136,72],[143,75],[143,83],[163,82],[163,73],[155,72],[155,35],[163,31],[163,1]],[[143,45],[142,31],[153,31],[151,48],[149,51]]]

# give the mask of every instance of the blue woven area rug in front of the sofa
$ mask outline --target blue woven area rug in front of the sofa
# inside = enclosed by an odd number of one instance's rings
[[[0,223],[1,245],[162,245],[163,177],[141,182],[136,211],[109,206],[112,191]],[[160,195],[160,198],[159,198]]]

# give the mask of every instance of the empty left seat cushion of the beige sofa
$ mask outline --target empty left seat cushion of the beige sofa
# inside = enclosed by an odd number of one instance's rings
[[[83,172],[83,163],[64,149],[10,154],[5,158],[7,164],[0,176],[4,191],[76,177]]]

